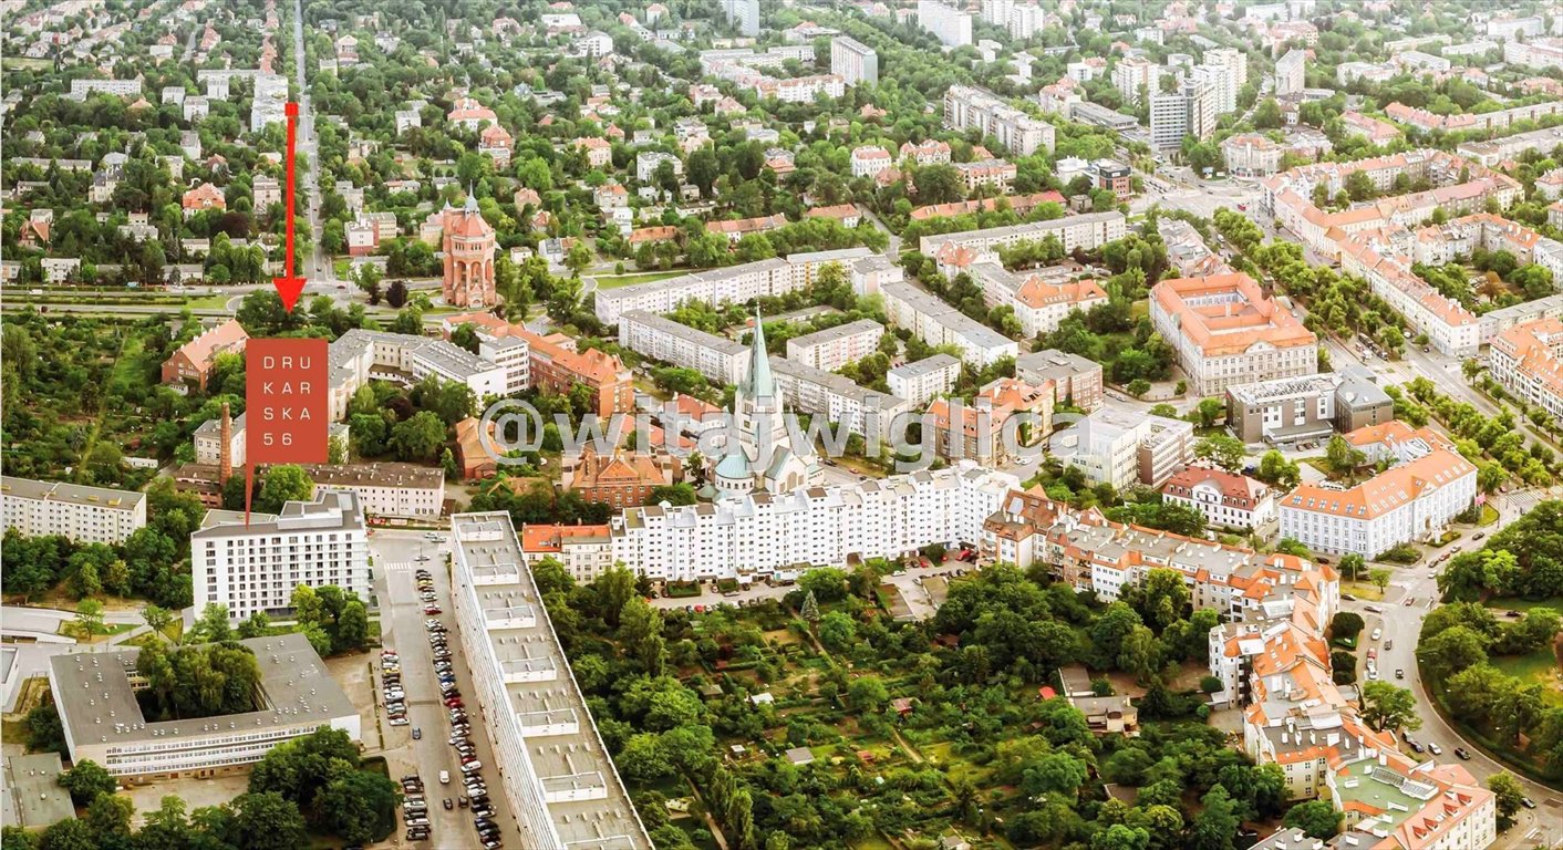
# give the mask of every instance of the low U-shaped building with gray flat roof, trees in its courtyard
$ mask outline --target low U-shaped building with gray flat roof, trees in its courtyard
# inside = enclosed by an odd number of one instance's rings
[[[139,650],[50,656],[48,689],[70,759],[91,759],[119,781],[141,784],[241,772],[272,747],[319,728],[361,738],[358,706],[303,634],[239,644],[255,653],[264,705],[247,714],[188,720],[147,722],[131,683]]]

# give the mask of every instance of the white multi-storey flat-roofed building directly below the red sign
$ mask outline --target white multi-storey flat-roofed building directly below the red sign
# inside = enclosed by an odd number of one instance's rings
[[[294,588],[336,584],[369,600],[369,538],[364,511],[350,492],[319,492],[289,502],[280,514],[208,511],[191,534],[195,609],[228,606],[228,619],[286,611]]]

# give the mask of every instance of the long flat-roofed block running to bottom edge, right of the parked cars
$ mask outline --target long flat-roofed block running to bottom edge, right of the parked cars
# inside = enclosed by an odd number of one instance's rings
[[[510,514],[452,517],[452,600],[492,772],[528,850],[652,850]]]

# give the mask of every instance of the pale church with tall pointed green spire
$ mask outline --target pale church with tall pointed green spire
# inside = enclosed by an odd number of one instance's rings
[[[814,448],[792,444],[782,389],[771,373],[764,323],[756,311],[749,375],[733,394],[733,416],[706,495],[721,500],[753,492],[782,494],[819,484],[822,477]]]

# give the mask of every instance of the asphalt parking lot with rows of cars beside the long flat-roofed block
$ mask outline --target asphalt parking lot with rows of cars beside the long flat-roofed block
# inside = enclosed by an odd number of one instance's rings
[[[431,847],[431,848],[480,848],[483,842],[474,828],[470,808],[461,808],[461,797],[466,795],[463,772],[458,753],[452,745],[452,723],[449,708],[441,692],[441,677],[436,673],[436,650],[430,645],[431,631],[427,620],[438,620],[445,634],[445,652],[442,661],[449,661],[447,680],[453,680],[463,698],[472,694],[472,678],[461,655],[461,639],[455,633],[455,617],[450,605],[450,575],[447,567],[449,544],[427,539],[422,531],[389,531],[378,530],[370,541],[375,552],[377,589],[381,598],[381,636],[388,652],[395,653],[395,669],[400,675],[402,703],[405,706],[405,725],[392,725],[392,712],[386,711],[383,689],[375,692],[377,716],[384,728],[386,761],[394,780],[417,775],[424,784],[427,811],[427,841],[410,839],[408,831],[400,827],[388,842],[394,847]],[[420,561],[419,558],[425,558]],[[417,570],[427,569],[433,588],[435,605],[439,614],[425,614],[425,600],[420,598]],[[381,666],[375,661],[375,666]],[[397,680],[394,680],[397,681]],[[492,758],[492,745],[483,733],[481,717],[469,717],[470,755],[483,766],[475,775],[488,780],[489,800],[494,809],[492,819],[500,825],[500,838],[510,847],[520,847],[520,839],[514,830],[514,820],[506,811],[503,794],[497,788],[499,770]],[[414,739],[414,731],[417,738]],[[441,783],[444,772],[449,778]],[[445,809],[444,802],[452,802]]]

